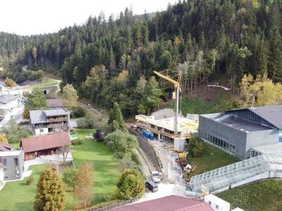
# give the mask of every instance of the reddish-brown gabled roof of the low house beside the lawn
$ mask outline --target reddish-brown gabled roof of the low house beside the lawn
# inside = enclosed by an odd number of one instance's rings
[[[49,134],[44,136],[33,136],[20,141],[20,146],[23,147],[25,153],[42,151],[51,148],[59,148],[61,146],[71,145],[68,132],[58,134]]]

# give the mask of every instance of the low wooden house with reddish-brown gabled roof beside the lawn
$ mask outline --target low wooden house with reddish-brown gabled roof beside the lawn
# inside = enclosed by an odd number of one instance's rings
[[[63,146],[70,146],[68,132],[33,136],[20,141],[20,147],[25,152],[25,160],[38,158],[44,155],[54,155],[56,150]]]

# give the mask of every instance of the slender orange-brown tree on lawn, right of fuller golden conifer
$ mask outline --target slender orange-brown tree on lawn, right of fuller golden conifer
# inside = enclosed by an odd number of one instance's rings
[[[78,170],[75,177],[75,187],[73,194],[75,198],[81,200],[84,207],[90,205],[94,184],[94,172],[90,163],[84,163]]]

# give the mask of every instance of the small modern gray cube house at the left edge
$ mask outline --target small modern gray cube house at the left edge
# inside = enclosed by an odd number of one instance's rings
[[[2,151],[0,152],[0,163],[4,181],[21,179],[24,172],[23,151]]]

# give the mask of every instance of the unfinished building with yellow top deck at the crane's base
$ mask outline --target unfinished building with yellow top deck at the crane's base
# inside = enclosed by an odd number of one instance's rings
[[[175,117],[158,117],[157,115],[136,115],[138,127],[154,134],[154,139],[166,141],[175,151],[183,151],[185,142],[197,132],[197,116],[182,117],[178,115],[178,132],[175,133]]]

